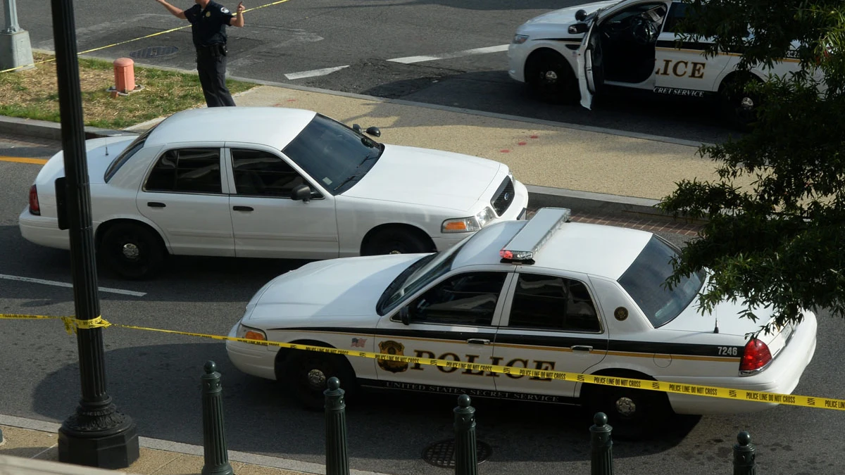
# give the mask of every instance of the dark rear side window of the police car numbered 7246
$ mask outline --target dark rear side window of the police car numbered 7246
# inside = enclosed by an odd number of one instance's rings
[[[508,326],[532,330],[602,330],[596,306],[583,282],[539,274],[519,275]]]

